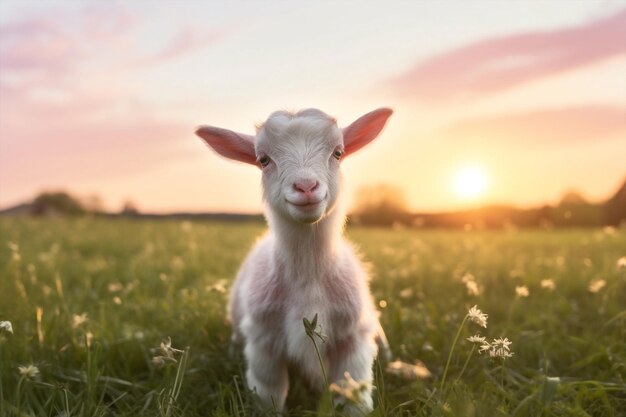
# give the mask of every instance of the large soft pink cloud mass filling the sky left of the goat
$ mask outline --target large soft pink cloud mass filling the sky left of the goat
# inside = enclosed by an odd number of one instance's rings
[[[183,144],[197,142],[193,126],[157,116],[167,104],[136,82],[150,70],[138,57],[158,65],[210,44],[216,35],[181,29],[151,53],[134,42],[137,16],[121,6],[94,7],[0,25],[5,196],[145,173],[192,156]]]

